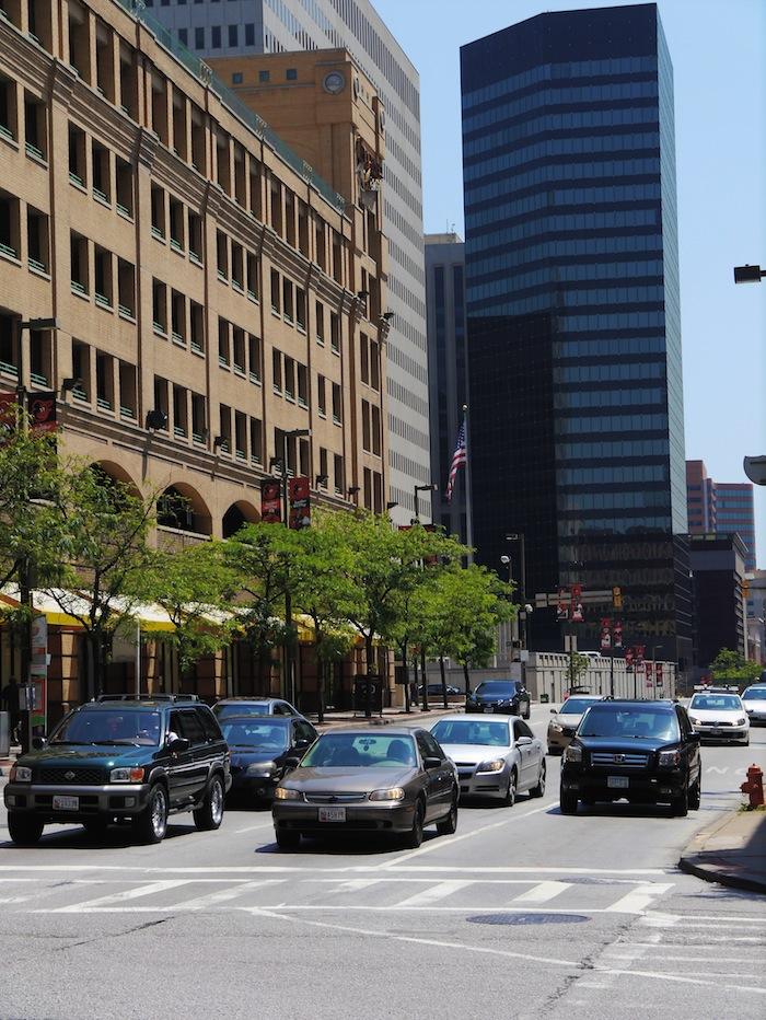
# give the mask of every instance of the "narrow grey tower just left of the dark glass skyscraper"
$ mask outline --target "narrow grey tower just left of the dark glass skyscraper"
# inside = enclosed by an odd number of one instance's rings
[[[454,233],[426,234],[426,304],[428,308],[428,385],[431,409],[431,478],[433,520],[448,534],[469,541],[466,488],[461,468],[452,499],[446,483],[457,433],[468,398],[465,346],[465,245]]]

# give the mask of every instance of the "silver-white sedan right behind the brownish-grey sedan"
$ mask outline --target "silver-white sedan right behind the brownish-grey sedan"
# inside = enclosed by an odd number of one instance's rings
[[[523,719],[442,716],[431,733],[457,767],[462,797],[494,797],[508,807],[517,793],[545,793],[545,747]]]

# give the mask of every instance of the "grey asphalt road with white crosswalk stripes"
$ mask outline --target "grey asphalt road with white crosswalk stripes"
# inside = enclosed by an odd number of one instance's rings
[[[544,734],[548,711],[533,710]],[[0,813],[0,1018],[762,1018],[764,899],[681,873],[693,833],[741,802],[766,729],[703,750],[687,819],[628,804],[465,805],[417,850],[303,843],[270,815],[160,846],[51,826],[14,848]],[[1,811],[1,809],[0,809]]]

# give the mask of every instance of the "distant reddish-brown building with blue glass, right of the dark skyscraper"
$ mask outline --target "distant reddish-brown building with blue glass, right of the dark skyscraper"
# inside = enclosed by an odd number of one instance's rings
[[[745,570],[755,570],[755,507],[750,482],[713,482],[704,461],[686,462],[686,501],[693,535],[731,532],[745,546]]]

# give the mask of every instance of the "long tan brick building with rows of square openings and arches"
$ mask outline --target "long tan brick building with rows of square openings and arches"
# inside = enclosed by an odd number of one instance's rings
[[[258,520],[293,429],[315,499],[384,510],[374,90],[345,51],[260,58],[295,152],[124,3],[0,0],[0,392],[21,366],[69,450],[184,495],[169,541]]]

